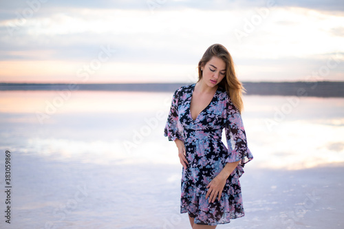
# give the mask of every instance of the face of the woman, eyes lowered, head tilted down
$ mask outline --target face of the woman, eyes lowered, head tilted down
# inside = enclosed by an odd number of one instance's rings
[[[213,56],[201,69],[202,80],[209,87],[215,87],[226,76],[226,63],[217,56]]]

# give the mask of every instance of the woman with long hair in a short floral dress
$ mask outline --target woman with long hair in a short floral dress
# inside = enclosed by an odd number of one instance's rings
[[[184,167],[180,212],[189,213],[193,229],[216,228],[244,216],[239,177],[253,158],[240,116],[244,88],[226,47],[208,47],[198,74],[197,83],[175,91],[164,129]]]

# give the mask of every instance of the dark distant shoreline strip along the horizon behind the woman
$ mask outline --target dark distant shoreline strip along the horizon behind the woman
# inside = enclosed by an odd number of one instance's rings
[[[0,91],[148,91],[173,92],[190,83],[0,83]],[[243,82],[247,95],[344,97],[344,82]]]

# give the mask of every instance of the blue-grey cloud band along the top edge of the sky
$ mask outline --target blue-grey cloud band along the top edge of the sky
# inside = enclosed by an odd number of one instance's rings
[[[203,11],[213,10],[238,10],[252,9],[266,6],[278,7],[300,7],[313,10],[344,11],[342,0],[17,0],[1,1],[0,19],[13,19],[17,14],[32,9],[35,14],[39,14],[41,9],[61,10],[61,9],[109,9],[109,10],[142,10],[147,12],[159,12],[165,10],[195,9]]]

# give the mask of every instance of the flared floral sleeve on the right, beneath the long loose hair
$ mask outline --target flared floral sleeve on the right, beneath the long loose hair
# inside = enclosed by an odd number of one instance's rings
[[[252,160],[253,156],[247,146],[246,133],[241,115],[228,96],[226,99],[224,120],[228,145],[228,157],[226,162],[237,162],[241,160],[238,166],[239,171],[242,171],[242,167]]]

